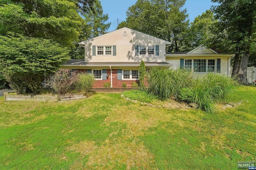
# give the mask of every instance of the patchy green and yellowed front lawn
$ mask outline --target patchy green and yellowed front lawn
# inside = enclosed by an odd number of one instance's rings
[[[0,169],[237,169],[256,161],[256,87],[235,108],[141,106],[120,94],[62,103],[0,98]]]

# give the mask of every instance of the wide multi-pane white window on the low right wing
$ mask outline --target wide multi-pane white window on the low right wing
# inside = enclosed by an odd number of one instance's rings
[[[184,69],[193,68],[194,72],[216,72],[215,64],[215,59],[185,59]]]

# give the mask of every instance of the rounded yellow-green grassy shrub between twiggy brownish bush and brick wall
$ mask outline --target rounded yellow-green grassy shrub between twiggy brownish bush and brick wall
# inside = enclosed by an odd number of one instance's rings
[[[76,90],[79,93],[86,93],[92,90],[94,83],[94,76],[84,72],[78,73],[77,80],[75,82]]]

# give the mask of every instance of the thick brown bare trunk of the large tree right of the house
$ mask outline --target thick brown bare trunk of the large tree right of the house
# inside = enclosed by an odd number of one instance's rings
[[[238,53],[235,55],[234,66],[232,70],[232,77],[237,78],[238,82],[247,85],[247,65],[248,65],[248,54],[239,56]]]

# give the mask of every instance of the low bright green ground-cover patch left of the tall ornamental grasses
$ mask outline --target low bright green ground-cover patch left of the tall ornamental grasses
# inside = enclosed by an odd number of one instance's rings
[[[123,92],[123,94],[125,97],[130,98],[132,100],[138,100],[140,102],[147,102],[147,103],[158,98],[158,96],[148,94],[144,90],[130,90],[130,91]]]

